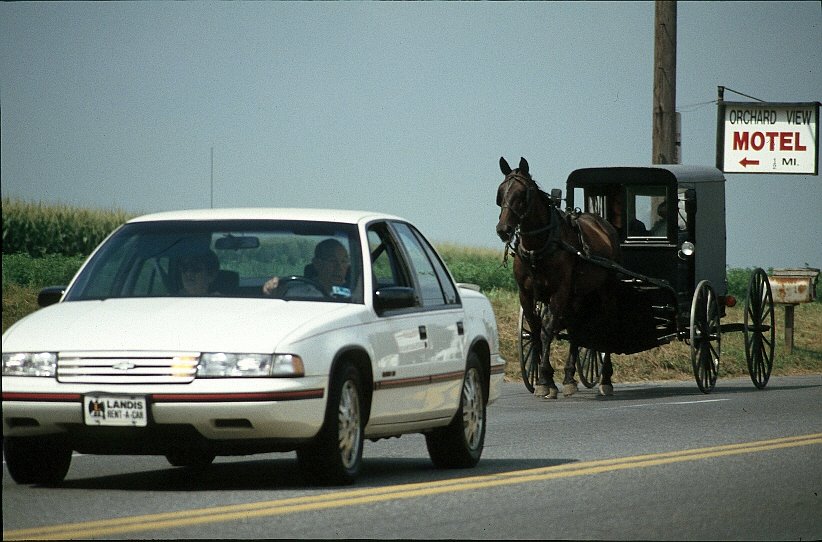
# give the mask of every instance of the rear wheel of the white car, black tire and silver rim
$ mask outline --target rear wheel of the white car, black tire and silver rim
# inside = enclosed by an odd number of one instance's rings
[[[485,445],[485,389],[482,367],[475,353],[468,355],[460,406],[446,427],[425,434],[428,455],[438,468],[473,467]]]

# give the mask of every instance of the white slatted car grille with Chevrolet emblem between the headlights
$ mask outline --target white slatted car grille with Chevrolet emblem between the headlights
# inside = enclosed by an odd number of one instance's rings
[[[72,384],[185,384],[199,352],[61,352],[57,380]]]

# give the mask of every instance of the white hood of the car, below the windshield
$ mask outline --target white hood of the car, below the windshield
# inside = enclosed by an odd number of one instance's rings
[[[38,310],[3,336],[3,351],[276,351],[283,341],[365,318],[362,305],[278,299],[130,298]]]

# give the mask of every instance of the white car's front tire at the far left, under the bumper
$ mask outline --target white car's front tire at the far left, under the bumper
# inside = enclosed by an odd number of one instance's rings
[[[71,466],[71,452],[60,436],[3,439],[6,468],[18,484],[60,484]]]

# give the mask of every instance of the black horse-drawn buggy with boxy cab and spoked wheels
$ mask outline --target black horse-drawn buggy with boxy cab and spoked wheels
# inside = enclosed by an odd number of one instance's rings
[[[574,342],[586,347],[576,358],[580,381],[596,385],[605,356],[635,353],[672,342],[690,345],[697,386],[716,384],[722,333],[745,334],[748,372],[757,388],[771,374],[774,309],[768,276],[756,269],[749,282],[743,323],[720,323],[728,295],[725,267],[725,177],[712,167],[654,165],[578,169],[568,177],[567,210],[608,220],[619,234],[622,263],[577,254],[608,268],[618,302],[610,311],[592,309]],[[552,192],[559,205],[561,193]],[[545,321],[548,309],[538,304]],[[534,391],[539,367],[531,355],[531,334],[520,309],[520,368]],[[559,338],[568,338],[559,335]]]

